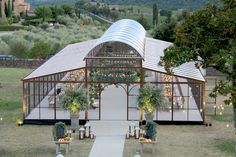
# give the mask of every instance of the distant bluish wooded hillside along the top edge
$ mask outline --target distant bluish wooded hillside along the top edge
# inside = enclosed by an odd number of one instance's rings
[[[32,6],[47,5],[47,4],[65,4],[75,3],[78,0],[26,0]],[[84,0],[90,1],[90,0]],[[207,3],[217,3],[218,0],[93,0],[95,2],[106,2],[109,4],[119,5],[144,5],[152,6],[154,3],[157,4],[158,8],[168,9],[197,9],[202,8]]]

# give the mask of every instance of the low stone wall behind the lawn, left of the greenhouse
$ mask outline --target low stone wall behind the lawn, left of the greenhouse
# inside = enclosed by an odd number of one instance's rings
[[[38,59],[0,59],[0,67],[35,69],[45,61]]]

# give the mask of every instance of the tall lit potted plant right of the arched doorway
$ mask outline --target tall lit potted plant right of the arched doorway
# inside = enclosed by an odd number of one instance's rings
[[[163,101],[162,91],[158,87],[147,84],[139,89],[138,106],[145,111],[146,121],[153,121],[153,113],[162,106]]]

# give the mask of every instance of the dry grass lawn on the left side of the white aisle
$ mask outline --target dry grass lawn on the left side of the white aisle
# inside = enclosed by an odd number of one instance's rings
[[[0,157],[52,157],[56,146],[52,137],[52,126],[17,126],[16,119],[22,117],[22,83],[30,69],[0,68]],[[71,151],[66,157],[88,157],[92,140],[79,141],[73,134]],[[62,145],[62,153],[65,146]]]

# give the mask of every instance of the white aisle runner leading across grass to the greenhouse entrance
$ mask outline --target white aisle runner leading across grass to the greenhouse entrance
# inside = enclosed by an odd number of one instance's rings
[[[122,157],[130,121],[90,121],[96,139],[89,157]]]

